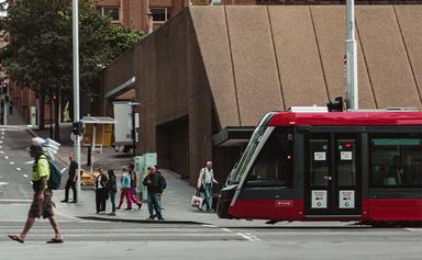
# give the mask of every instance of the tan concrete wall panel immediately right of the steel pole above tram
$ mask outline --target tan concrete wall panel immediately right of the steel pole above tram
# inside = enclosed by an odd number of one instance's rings
[[[356,24],[379,109],[420,104],[391,5],[359,5]]]

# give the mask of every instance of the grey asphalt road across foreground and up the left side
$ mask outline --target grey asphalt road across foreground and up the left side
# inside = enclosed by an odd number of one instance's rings
[[[422,228],[298,225],[223,227],[59,219],[65,244],[49,245],[46,221],[25,244],[10,240],[29,210],[29,134],[0,127],[0,260],[37,259],[422,259]],[[26,176],[25,176],[26,174]]]

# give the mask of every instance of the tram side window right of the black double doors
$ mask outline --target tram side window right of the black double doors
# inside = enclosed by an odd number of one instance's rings
[[[370,186],[422,186],[421,134],[371,136]]]

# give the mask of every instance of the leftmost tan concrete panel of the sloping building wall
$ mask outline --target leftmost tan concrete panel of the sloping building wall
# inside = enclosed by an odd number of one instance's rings
[[[221,128],[238,126],[227,27],[223,7],[192,7],[190,15]],[[221,94],[224,93],[224,94]]]

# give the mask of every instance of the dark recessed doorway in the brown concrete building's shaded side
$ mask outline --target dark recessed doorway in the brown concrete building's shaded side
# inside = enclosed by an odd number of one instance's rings
[[[180,117],[157,128],[158,167],[170,169],[189,178],[189,122]]]

